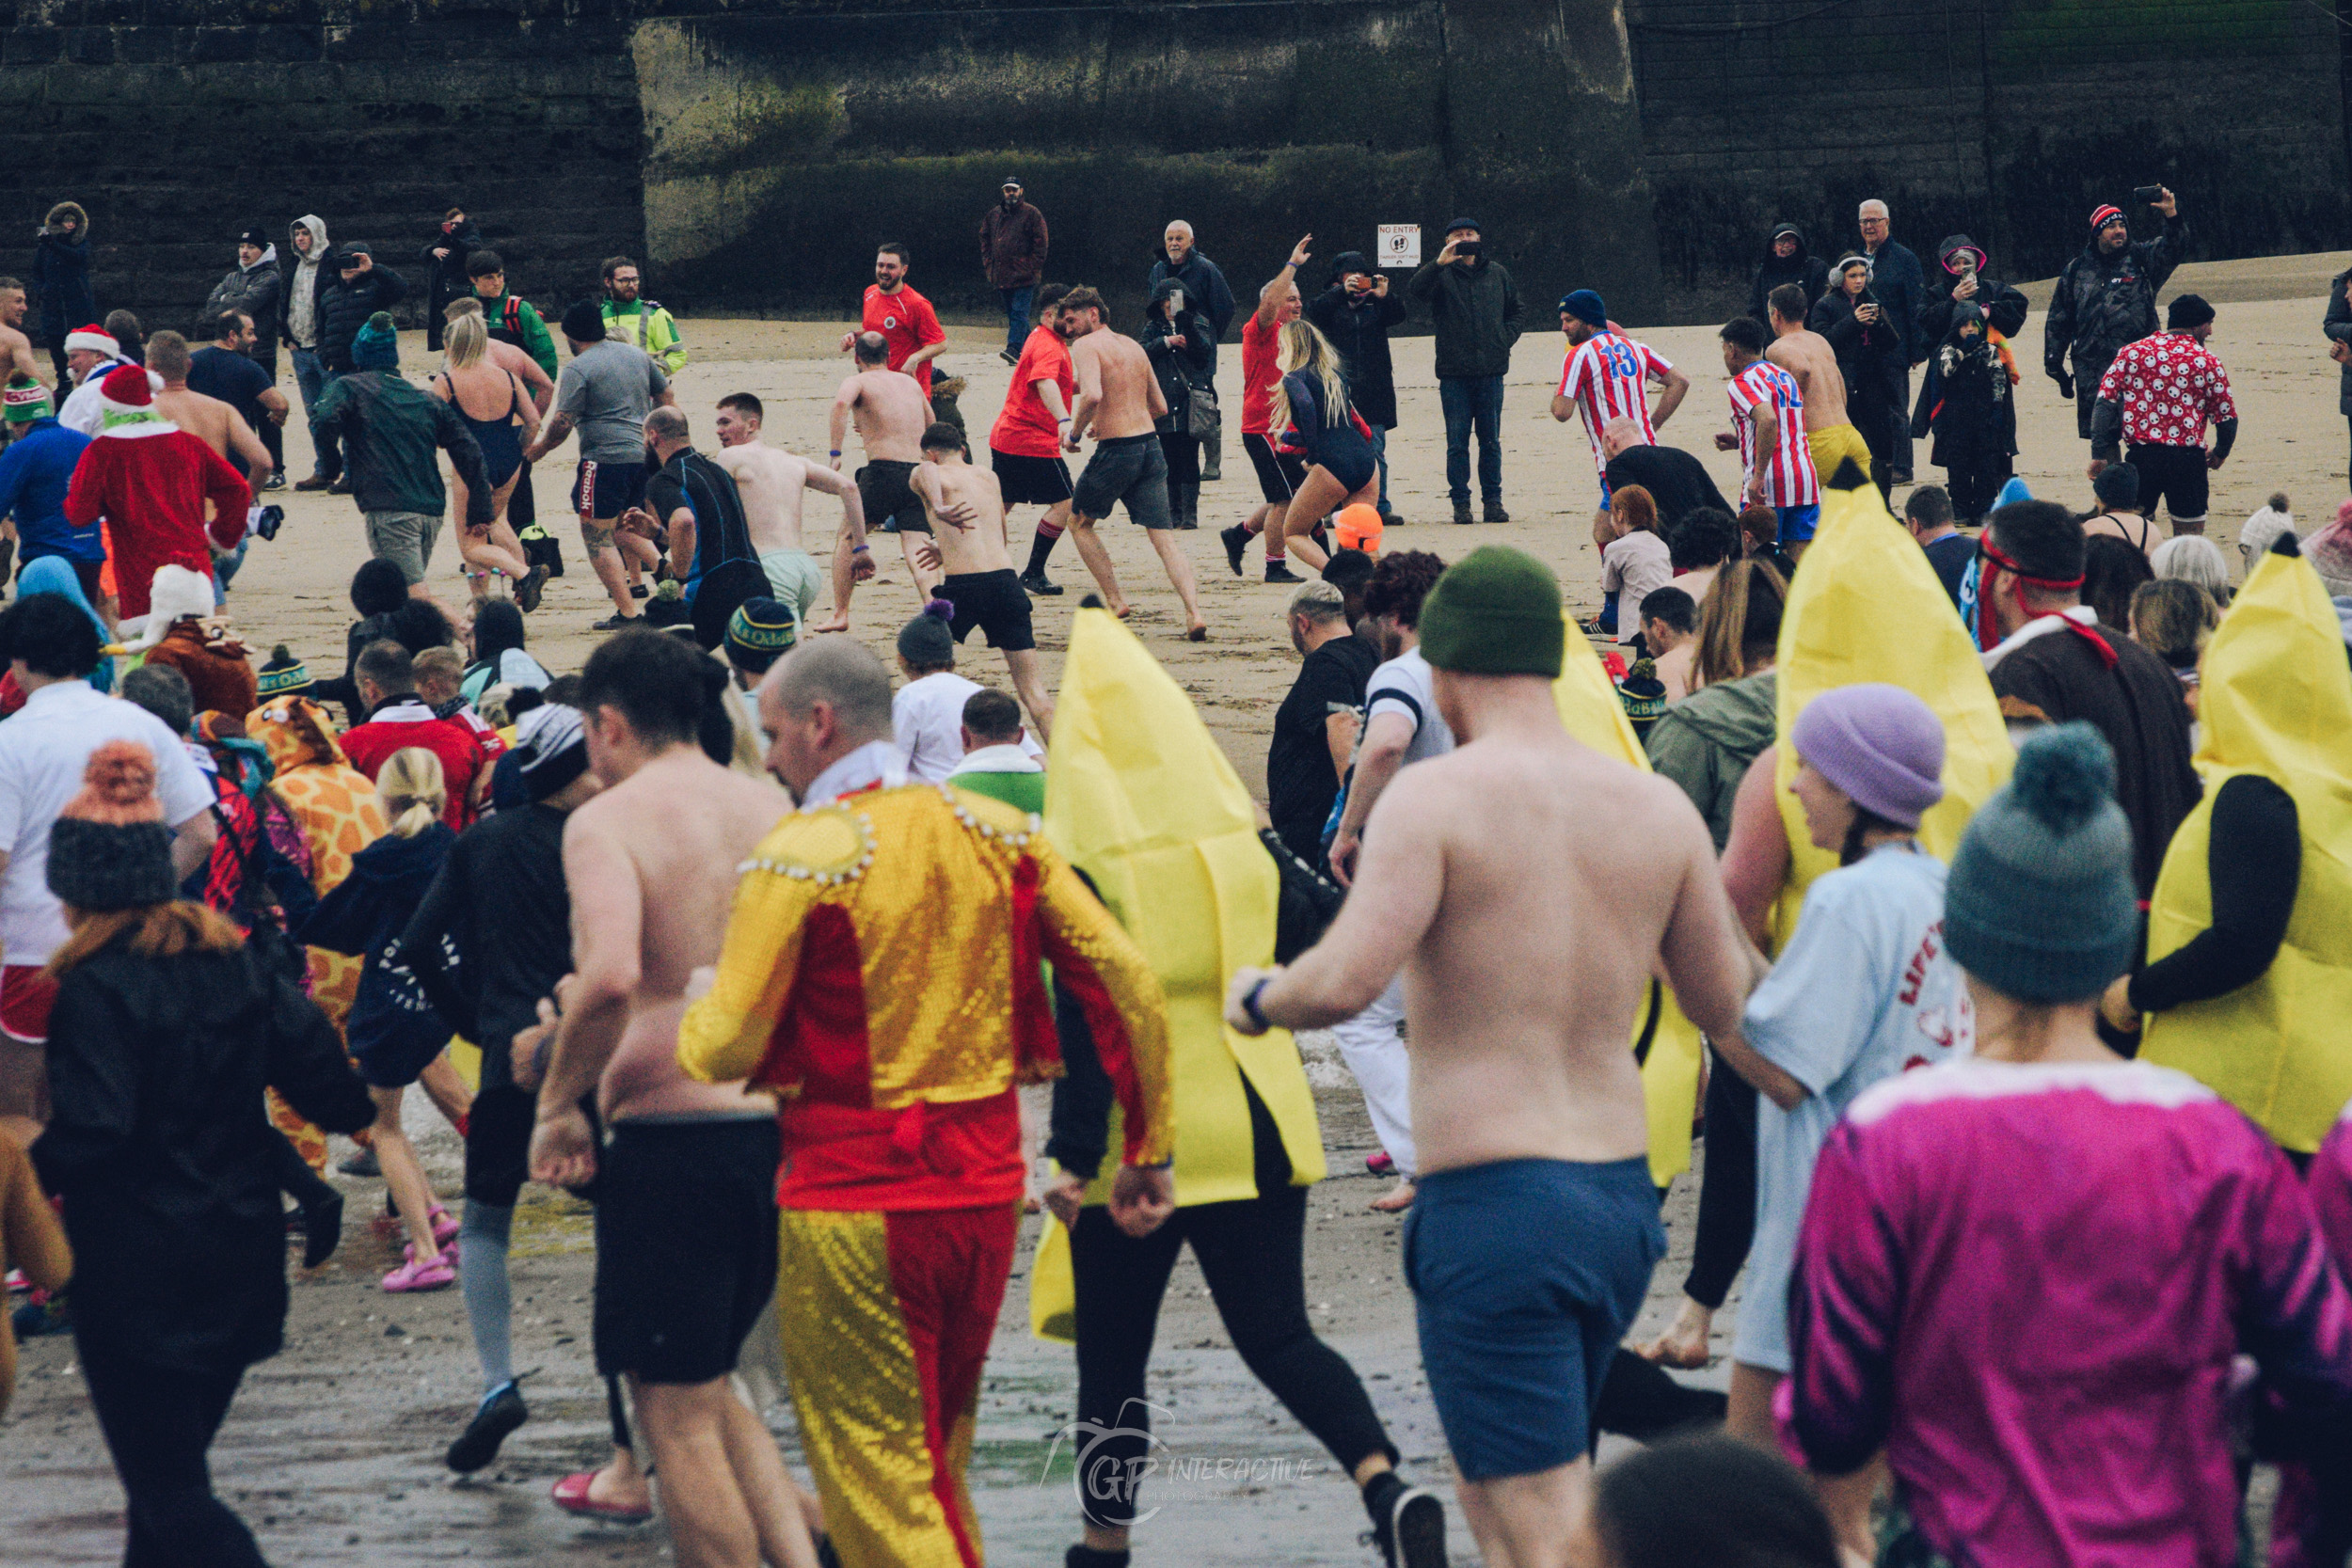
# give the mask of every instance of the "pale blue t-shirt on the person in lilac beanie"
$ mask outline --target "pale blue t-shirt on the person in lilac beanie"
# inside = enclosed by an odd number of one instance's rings
[[[1882,844],[1823,875],[1773,971],[1748,999],[1748,1044],[1806,1086],[1797,1110],[1757,1107],[1757,1227],[1731,1356],[1790,1371],[1788,1276],[1813,1159],[1882,1079],[1976,1051],[1959,964],[1943,950],[1943,860]]]

